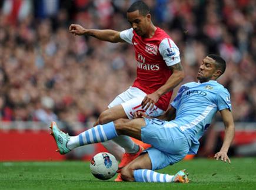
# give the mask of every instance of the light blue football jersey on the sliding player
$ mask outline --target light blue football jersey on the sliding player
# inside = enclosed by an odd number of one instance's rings
[[[230,93],[215,80],[205,83],[190,82],[179,88],[171,106],[176,108],[176,118],[172,123],[188,139],[189,154],[196,154],[199,139],[209,127],[217,111],[231,110]]]

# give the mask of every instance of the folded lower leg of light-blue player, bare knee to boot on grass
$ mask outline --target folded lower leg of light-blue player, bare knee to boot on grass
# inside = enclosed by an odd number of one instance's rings
[[[158,154],[156,152],[156,157],[165,158],[165,154]],[[152,153],[151,153],[152,154]],[[151,157],[149,157],[148,152],[139,155],[135,160],[130,162],[121,171],[121,178],[124,181],[136,181],[136,182],[188,182],[187,174],[184,170],[179,171],[175,175],[161,174],[152,170]],[[153,158],[154,159],[154,158]],[[158,158],[157,158],[158,159]],[[158,159],[160,162],[165,162],[164,159]],[[161,163],[162,166],[168,165]]]

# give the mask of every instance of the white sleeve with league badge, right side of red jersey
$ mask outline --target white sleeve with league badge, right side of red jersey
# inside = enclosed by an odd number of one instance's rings
[[[169,38],[163,39],[159,44],[159,53],[165,60],[167,66],[172,66],[181,62],[179,49],[177,45],[175,45],[174,41]]]

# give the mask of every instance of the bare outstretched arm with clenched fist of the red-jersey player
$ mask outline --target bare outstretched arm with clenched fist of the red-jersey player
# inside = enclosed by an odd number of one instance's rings
[[[107,42],[125,42],[120,38],[120,32],[116,30],[99,30],[99,29],[85,29],[81,25],[72,24],[69,26],[69,32],[74,35],[88,35],[93,36],[99,40]]]

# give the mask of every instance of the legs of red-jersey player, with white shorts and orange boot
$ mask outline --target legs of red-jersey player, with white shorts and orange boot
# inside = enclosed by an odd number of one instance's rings
[[[141,108],[141,101],[144,99],[145,93],[136,88],[130,88],[124,93],[117,96],[112,103],[109,104],[109,109],[105,110],[101,116],[99,116],[98,123],[104,124],[108,121],[114,121],[118,118],[133,118],[133,113]],[[143,148],[134,143],[127,135],[119,135],[112,141],[102,143],[109,152],[114,155],[120,155],[121,151],[112,151],[115,145],[120,145],[124,148],[125,152],[122,152],[121,162],[118,166],[118,171],[134,160],[142,152]],[[117,147],[117,146],[116,146]],[[117,147],[119,148],[119,147]],[[121,149],[121,148],[119,148]],[[117,149],[114,149],[117,150]],[[122,181],[121,176],[118,175],[115,181]]]

